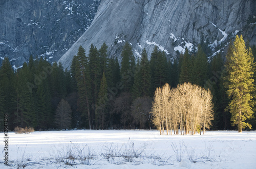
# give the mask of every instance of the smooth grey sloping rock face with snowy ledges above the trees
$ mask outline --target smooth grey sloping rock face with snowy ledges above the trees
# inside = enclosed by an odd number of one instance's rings
[[[80,45],[88,53],[91,43],[100,48],[103,42],[119,60],[126,41],[136,57],[144,47],[150,55],[158,46],[175,58],[185,47],[191,51],[202,34],[214,51],[236,34],[253,45],[256,24],[247,24],[249,16],[256,16],[254,0],[102,0],[89,29],[59,61],[69,67]]]

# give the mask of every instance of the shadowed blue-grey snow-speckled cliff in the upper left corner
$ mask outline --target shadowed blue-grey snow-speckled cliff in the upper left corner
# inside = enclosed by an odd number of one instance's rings
[[[91,24],[100,0],[0,1],[0,60],[58,61]]]

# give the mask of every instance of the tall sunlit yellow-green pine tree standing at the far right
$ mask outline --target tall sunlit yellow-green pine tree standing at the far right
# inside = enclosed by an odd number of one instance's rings
[[[231,112],[233,125],[238,125],[238,131],[242,132],[245,127],[251,128],[246,123],[250,119],[253,111],[251,105],[251,92],[253,91],[253,57],[251,50],[247,50],[243,36],[241,35],[230,45],[226,55],[226,82],[227,95],[231,99],[228,109]]]

